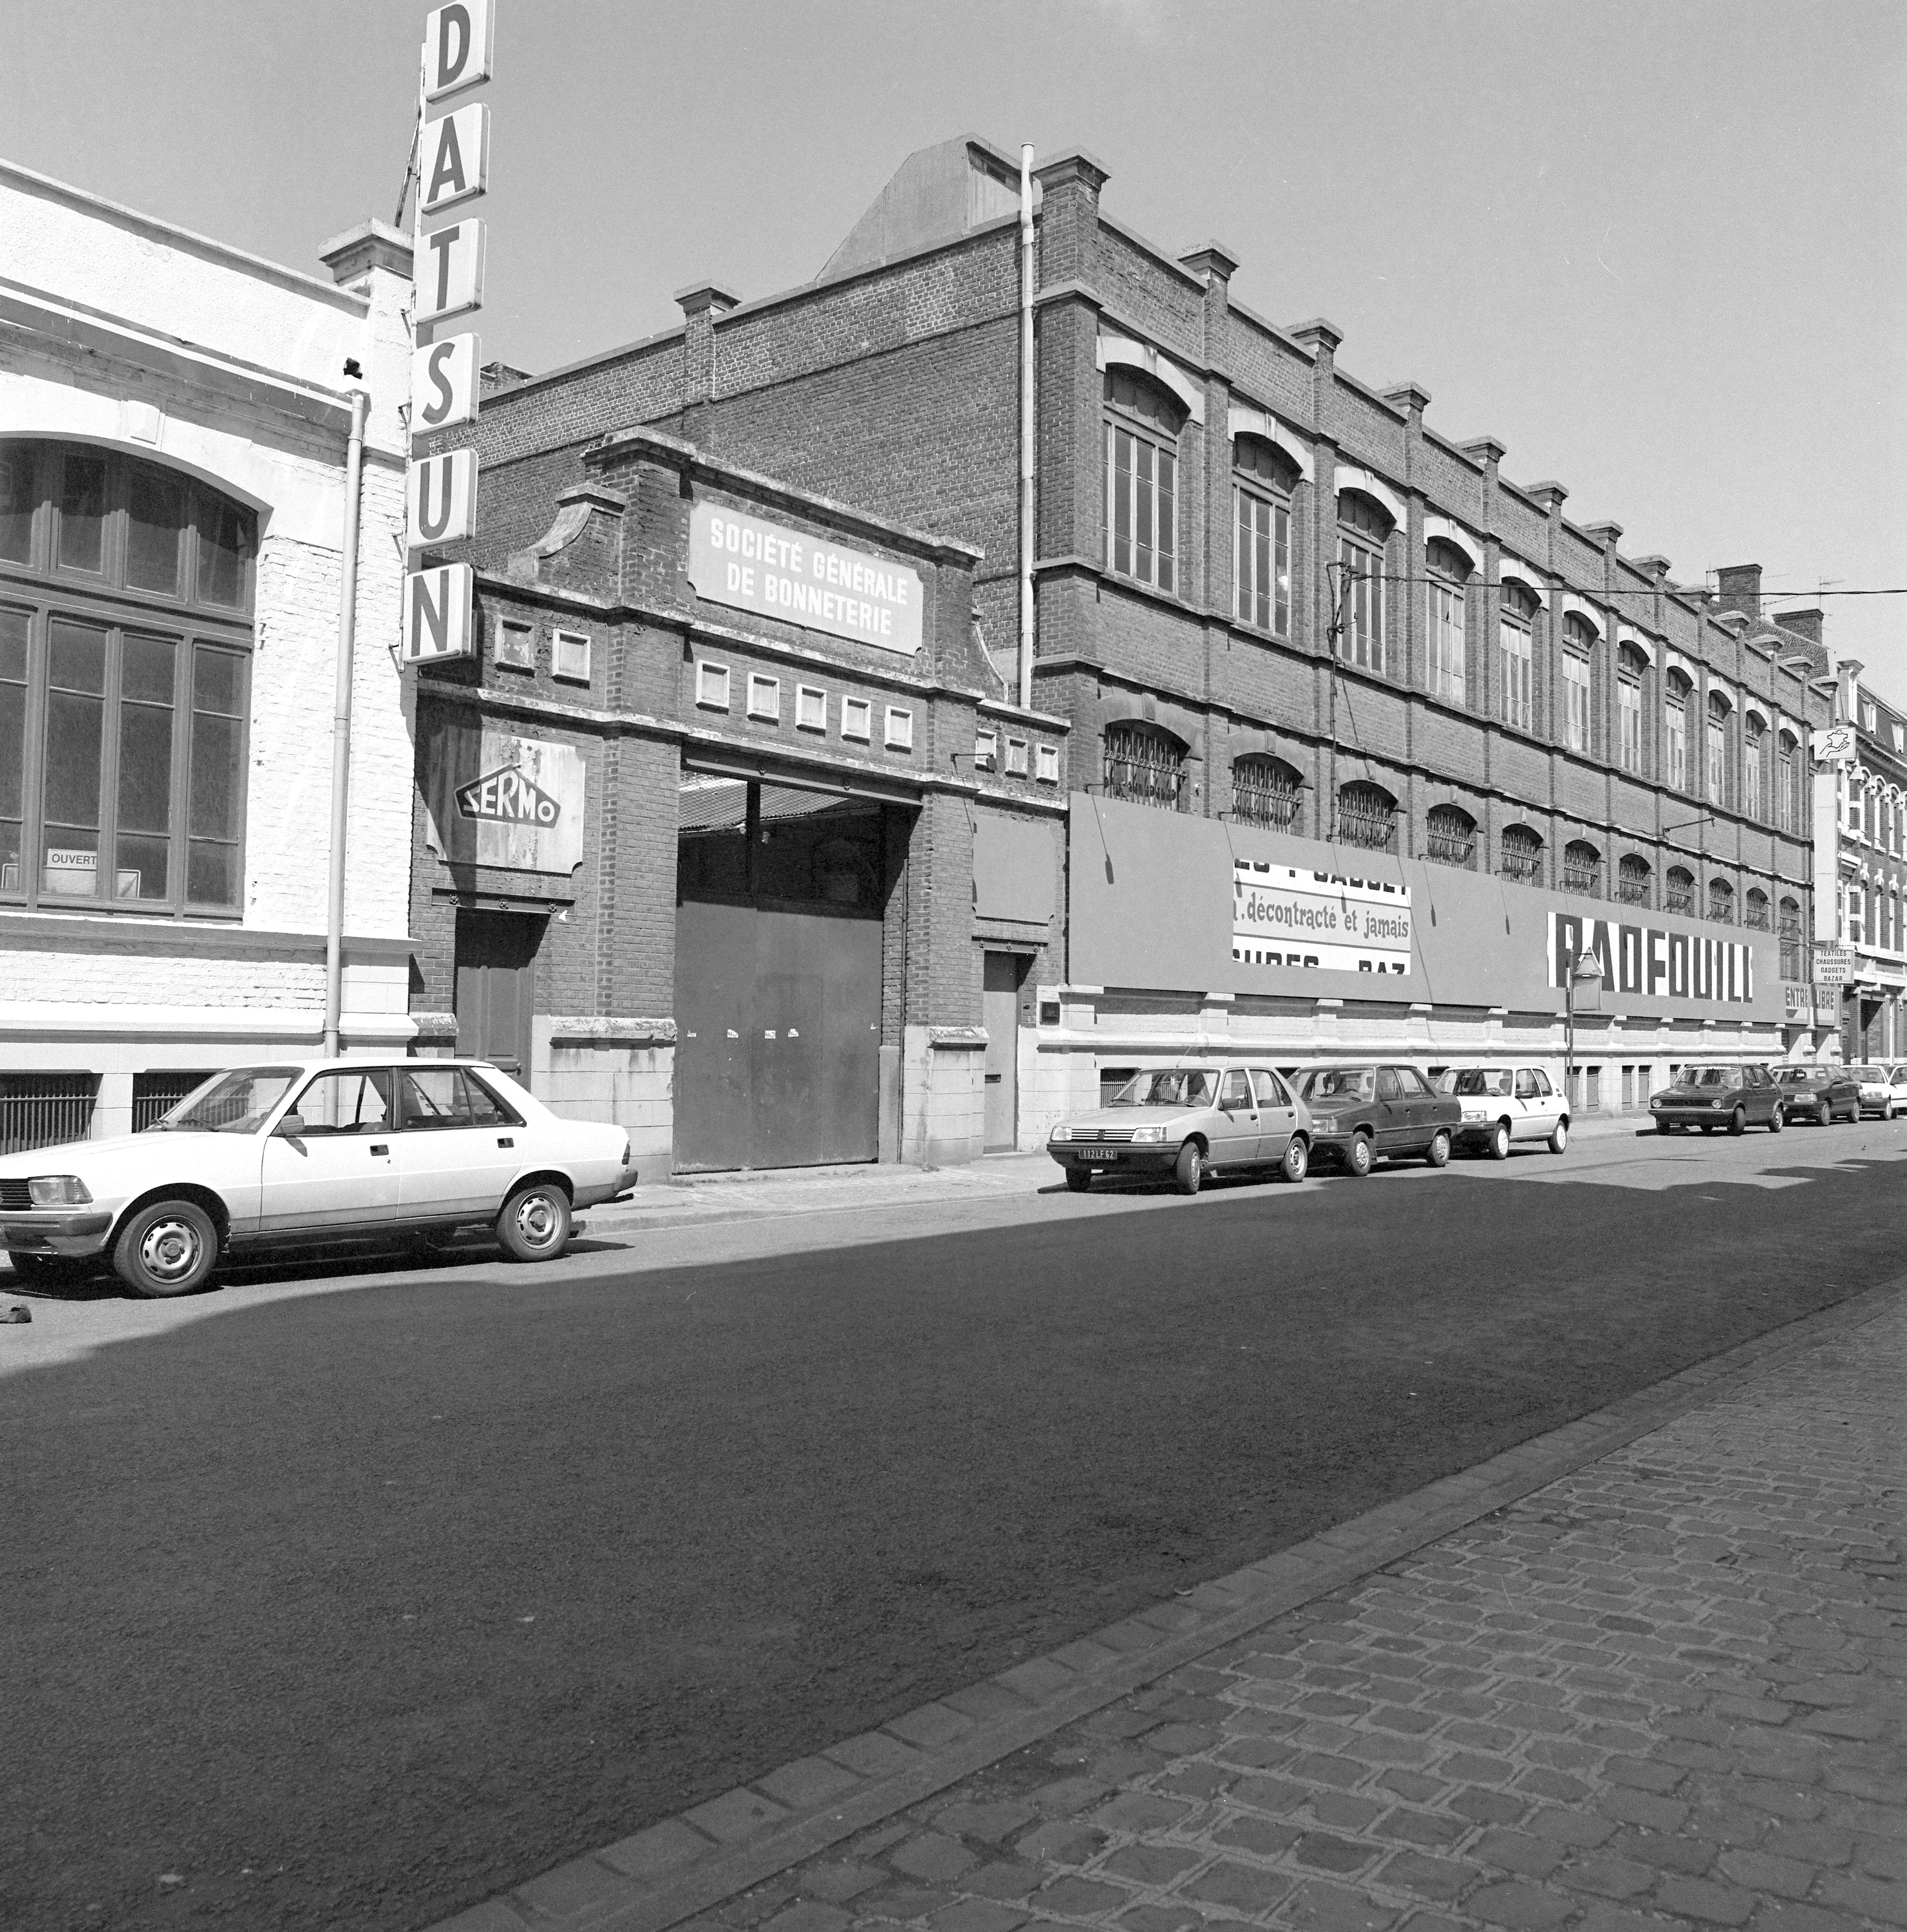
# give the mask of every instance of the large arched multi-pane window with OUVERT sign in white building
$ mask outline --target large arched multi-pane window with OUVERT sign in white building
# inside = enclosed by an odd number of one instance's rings
[[[255,547],[176,469],[0,442],[0,900],[240,910]]]

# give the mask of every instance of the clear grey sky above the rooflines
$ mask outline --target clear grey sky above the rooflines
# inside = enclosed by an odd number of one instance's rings
[[[1246,305],[1677,582],[1907,585],[1907,0],[497,8],[487,357],[804,282],[947,135],[1078,141],[1109,213],[1221,240]],[[394,211],[425,12],[0,0],[0,155],[315,270]],[[1907,701],[1907,597],[1824,605]]]

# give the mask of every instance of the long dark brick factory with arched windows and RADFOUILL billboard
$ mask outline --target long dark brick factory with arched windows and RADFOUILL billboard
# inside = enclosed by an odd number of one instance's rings
[[[1070,726],[1063,943],[1018,954],[1020,1144],[1186,1051],[1553,1063],[1579,949],[1606,968],[1579,1111],[1646,1109],[1691,1059],[1830,1051],[1791,991],[1818,618],[1772,620],[1750,568],[1691,589],[1623,554],[1619,526],[1571,522],[1499,442],[1432,429],[1422,388],[1339,367],[1329,323],[1233,301],[1227,249],[1113,218],[1086,153],[1036,176],[1032,554],[1018,174],[970,137],[912,156],[815,282],[746,303],[697,286],[680,328],[491,394],[481,560],[535,545],[638,425],[711,479],[761,471],[790,504],[978,551],[968,676],[1005,692],[1024,670],[1018,728]],[[684,678],[697,653],[690,636]],[[800,746],[792,711],[767,730]],[[937,736],[914,771],[964,782],[972,750]],[[982,1022],[987,941],[964,947],[935,962],[949,1024]],[[603,972],[649,972],[661,1003],[665,958],[611,947]]]

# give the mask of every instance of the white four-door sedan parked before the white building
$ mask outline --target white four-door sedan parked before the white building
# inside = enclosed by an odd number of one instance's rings
[[[0,1250],[46,1283],[110,1258],[139,1294],[185,1294],[234,1248],[468,1225],[547,1262],[634,1179],[620,1126],[481,1061],[286,1061],[213,1074],[141,1134],[6,1155]]]

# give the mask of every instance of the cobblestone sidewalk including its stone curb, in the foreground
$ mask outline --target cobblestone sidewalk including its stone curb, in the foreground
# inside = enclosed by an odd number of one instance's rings
[[[1907,1279],[442,1932],[1907,1924]]]

